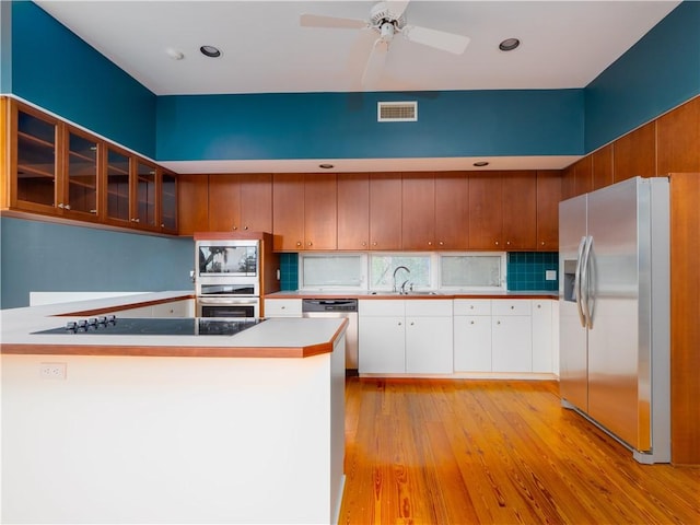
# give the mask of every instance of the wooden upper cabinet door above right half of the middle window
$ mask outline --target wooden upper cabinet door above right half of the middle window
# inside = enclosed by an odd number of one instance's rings
[[[434,249],[435,175],[405,173],[401,180],[401,246]]]

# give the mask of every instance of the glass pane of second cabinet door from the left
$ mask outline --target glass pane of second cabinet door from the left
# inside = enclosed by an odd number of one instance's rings
[[[66,161],[68,192],[58,207],[97,214],[97,142],[74,131],[68,133]],[[66,198],[67,197],[67,198]]]

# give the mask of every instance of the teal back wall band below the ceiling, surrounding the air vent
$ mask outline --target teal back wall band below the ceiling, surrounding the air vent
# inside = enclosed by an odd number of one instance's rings
[[[418,121],[377,122],[378,101]],[[583,153],[583,90],[173,95],[158,159],[365,159]]]

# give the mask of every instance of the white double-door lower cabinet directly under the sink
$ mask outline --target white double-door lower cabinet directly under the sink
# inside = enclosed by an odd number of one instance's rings
[[[451,374],[452,301],[360,301],[359,372]]]

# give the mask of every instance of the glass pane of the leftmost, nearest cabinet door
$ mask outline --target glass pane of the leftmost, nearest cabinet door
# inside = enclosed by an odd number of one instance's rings
[[[18,110],[16,194],[14,200],[54,207],[57,124]]]

